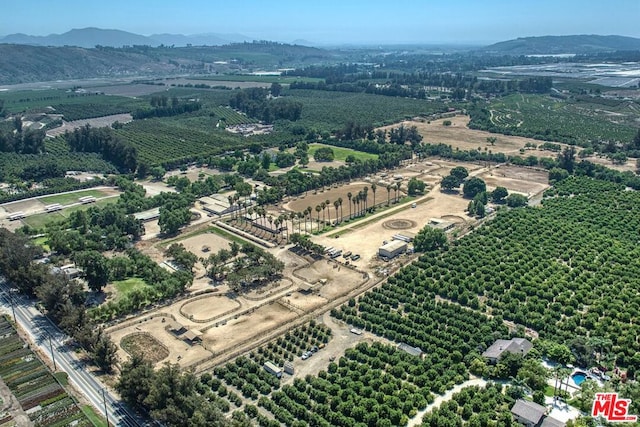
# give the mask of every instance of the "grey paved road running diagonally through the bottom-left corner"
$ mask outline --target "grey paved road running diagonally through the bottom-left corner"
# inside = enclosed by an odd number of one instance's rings
[[[98,410],[98,413],[104,415],[106,409],[110,425],[141,426],[142,422],[129,413],[122,402],[116,399],[100,381],[85,369],[84,364],[78,360],[73,350],[64,344],[69,337],[43,316],[34,307],[34,302],[11,293],[4,279],[0,278],[0,306],[11,315],[15,313],[16,322],[50,360],[53,360],[53,349],[57,369],[65,371],[69,375],[69,382],[76,390],[82,393],[85,399]]]

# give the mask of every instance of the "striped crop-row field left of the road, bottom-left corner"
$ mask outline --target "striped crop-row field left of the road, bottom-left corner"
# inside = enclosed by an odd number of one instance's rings
[[[17,425],[93,425],[5,317],[0,318],[0,337],[0,377],[28,414],[28,420],[24,419],[25,412],[15,416],[8,413],[8,417]],[[8,421],[7,417],[0,420]]]

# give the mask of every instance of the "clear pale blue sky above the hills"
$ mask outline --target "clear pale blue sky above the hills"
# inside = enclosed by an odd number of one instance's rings
[[[8,0],[3,0],[8,1]],[[640,38],[640,0],[17,0],[0,35],[98,27],[317,44],[486,44],[569,34]]]

